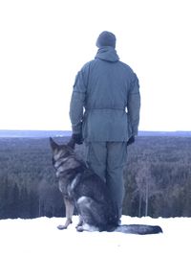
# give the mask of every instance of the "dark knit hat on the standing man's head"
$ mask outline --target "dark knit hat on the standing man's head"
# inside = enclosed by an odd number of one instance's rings
[[[114,35],[111,32],[104,31],[100,35],[98,35],[98,38],[96,40],[96,46],[98,48],[104,47],[104,46],[112,46],[116,48],[116,35]]]

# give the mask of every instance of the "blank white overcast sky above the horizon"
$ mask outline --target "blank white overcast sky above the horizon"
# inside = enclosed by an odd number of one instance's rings
[[[0,0],[0,129],[71,129],[102,31],[138,75],[141,130],[191,130],[189,0]]]

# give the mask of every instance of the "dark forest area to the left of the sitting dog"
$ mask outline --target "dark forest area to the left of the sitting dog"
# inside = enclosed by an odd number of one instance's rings
[[[48,138],[0,139],[0,219],[64,216]]]

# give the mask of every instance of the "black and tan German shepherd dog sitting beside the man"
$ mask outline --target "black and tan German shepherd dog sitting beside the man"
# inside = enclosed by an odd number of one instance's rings
[[[139,235],[162,232],[159,226],[119,225],[117,209],[106,184],[75,155],[74,141],[71,139],[67,145],[58,145],[50,138],[50,143],[53,167],[66,208],[66,222],[58,229],[66,229],[72,223],[75,207],[79,215],[77,231],[117,231]]]

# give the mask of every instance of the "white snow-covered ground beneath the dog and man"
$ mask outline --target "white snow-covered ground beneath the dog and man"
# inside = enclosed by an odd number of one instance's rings
[[[191,219],[151,219],[123,216],[122,223],[159,224],[158,235],[75,231],[77,217],[67,230],[56,226],[62,218],[0,221],[1,256],[44,255],[191,255]]]

